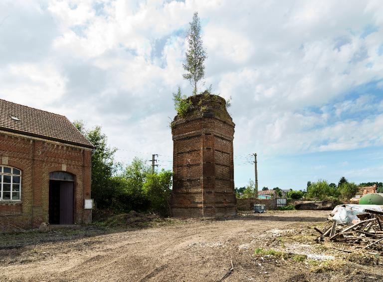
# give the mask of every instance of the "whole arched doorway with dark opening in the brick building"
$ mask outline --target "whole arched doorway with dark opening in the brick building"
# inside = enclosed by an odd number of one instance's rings
[[[49,223],[73,224],[74,176],[64,171],[49,173]]]

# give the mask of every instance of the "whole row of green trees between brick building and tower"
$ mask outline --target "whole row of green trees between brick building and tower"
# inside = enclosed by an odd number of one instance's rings
[[[74,121],[78,130],[95,146],[92,155],[91,195],[97,209],[114,213],[129,211],[171,215],[172,172],[153,172],[145,161],[134,158],[125,167],[114,159],[117,148],[108,146],[101,127],[87,129]]]

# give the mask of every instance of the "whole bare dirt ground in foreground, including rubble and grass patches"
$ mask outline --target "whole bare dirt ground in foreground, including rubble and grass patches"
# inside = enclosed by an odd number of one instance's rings
[[[324,229],[328,214],[271,211],[129,231],[0,234],[0,281],[220,281],[231,261],[222,281],[383,281],[382,259],[313,242],[313,227]]]

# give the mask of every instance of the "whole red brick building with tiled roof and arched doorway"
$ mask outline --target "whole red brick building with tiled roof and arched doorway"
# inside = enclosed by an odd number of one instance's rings
[[[65,116],[0,99],[0,230],[91,222],[92,150]]]

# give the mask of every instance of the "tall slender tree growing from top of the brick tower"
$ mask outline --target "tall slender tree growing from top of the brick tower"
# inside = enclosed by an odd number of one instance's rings
[[[197,83],[205,75],[205,66],[203,65],[206,59],[206,51],[202,46],[201,26],[199,23],[198,13],[194,12],[190,29],[188,33],[188,51],[186,52],[186,62],[183,67],[186,71],[183,74],[185,79],[188,79],[193,86],[193,95],[197,94]]]

